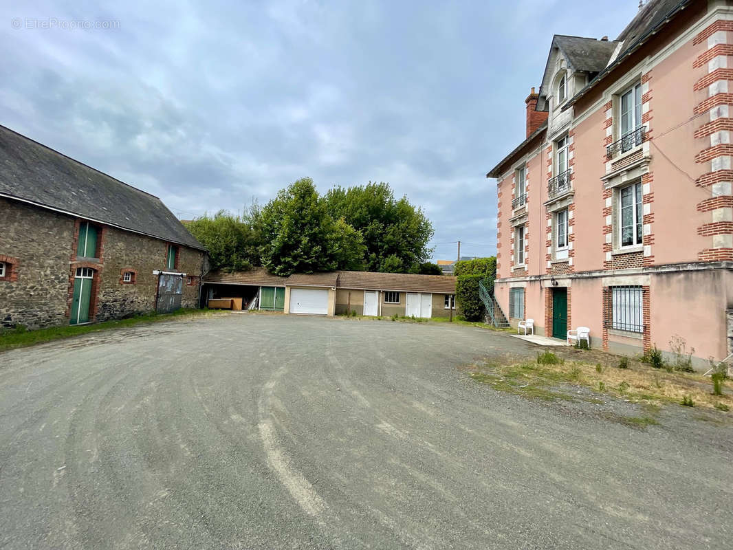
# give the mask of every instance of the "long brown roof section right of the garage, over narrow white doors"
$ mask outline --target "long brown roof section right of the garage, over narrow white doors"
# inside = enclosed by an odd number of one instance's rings
[[[456,278],[449,275],[339,271],[338,287],[453,294],[456,291]]]

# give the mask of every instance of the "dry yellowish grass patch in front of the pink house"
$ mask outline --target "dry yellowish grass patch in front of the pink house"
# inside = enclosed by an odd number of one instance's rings
[[[615,360],[612,360],[613,365]],[[630,403],[649,407],[643,416],[653,416],[660,405],[676,403],[710,411],[729,411],[733,395],[721,388],[723,395],[710,392],[710,378],[701,373],[658,369],[652,364],[633,368],[607,368],[599,363],[563,360],[552,352],[540,353],[537,361],[515,364],[474,364],[471,378],[492,385],[500,391],[548,399],[572,398],[562,386],[578,386],[596,394],[620,397]],[[575,393],[575,392],[572,392]],[[559,397],[559,394],[564,397]],[[582,397],[579,397],[582,399]]]

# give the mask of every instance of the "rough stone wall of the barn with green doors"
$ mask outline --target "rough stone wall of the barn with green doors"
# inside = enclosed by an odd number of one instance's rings
[[[7,226],[0,255],[17,259],[15,280],[0,280],[0,324],[40,328],[69,322],[76,268],[95,270],[92,320],[125,318],[155,309],[158,276],[166,269],[168,243],[115,227],[100,227],[98,259],[76,257],[78,220],[20,202],[0,199]],[[196,307],[203,253],[178,248],[183,307]],[[125,271],[133,273],[125,282]],[[191,282],[189,284],[189,277]]]

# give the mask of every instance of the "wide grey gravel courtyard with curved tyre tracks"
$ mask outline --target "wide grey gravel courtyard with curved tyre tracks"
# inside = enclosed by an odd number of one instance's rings
[[[535,350],[232,314],[0,353],[0,547],[730,548],[731,430],[636,430],[457,368]]]

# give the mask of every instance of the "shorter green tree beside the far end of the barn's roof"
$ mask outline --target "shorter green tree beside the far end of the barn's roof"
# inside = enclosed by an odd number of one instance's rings
[[[219,210],[189,221],[186,229],[209,252],[212,269],[241,271],[259,263],[259,240],[248,219]]]

